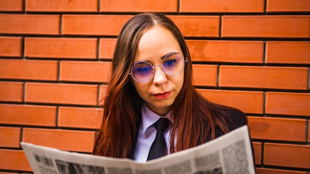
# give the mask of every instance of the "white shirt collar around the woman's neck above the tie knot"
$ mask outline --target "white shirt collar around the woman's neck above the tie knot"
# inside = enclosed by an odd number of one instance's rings
[[[143,133],[152,126],[159,118],[168,118],[172,123],[173,119],[171,117],[171,111],[167,115],[161,117],[155,114],[151,109],[148,108],[147,104],[144,102],[142,105],[142,131]]]

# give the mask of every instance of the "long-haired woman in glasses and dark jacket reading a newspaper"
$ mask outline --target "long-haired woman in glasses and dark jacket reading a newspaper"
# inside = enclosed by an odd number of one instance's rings
[[[130,19],[114,51],[103,123],[93,154],[147,161],[156,136],[153,123],[161,117],[170,120],[169,128],[163,131],[165,154],[247,125],[241,111],[200,95],[192,76],[188,47],[169,18],[143,13]]]

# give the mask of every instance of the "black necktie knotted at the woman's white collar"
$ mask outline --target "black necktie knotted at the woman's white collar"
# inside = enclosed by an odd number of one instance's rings
[[[162,132],[168,128],[170,120],[167,118],[160,118],[153,125],[157,132],[155,140],[151,145],[147,161],[154,160],[167,154],[167,145]]]

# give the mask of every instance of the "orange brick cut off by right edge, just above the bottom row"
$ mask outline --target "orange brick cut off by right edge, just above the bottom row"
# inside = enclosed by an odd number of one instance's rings
[[[264,143],[264,165],[310,169],[310,146]]]

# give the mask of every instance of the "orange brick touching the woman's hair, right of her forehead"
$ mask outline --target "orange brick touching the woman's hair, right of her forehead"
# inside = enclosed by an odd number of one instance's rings
[[[259,41],[186,40],[193,61],[262,63]]]

